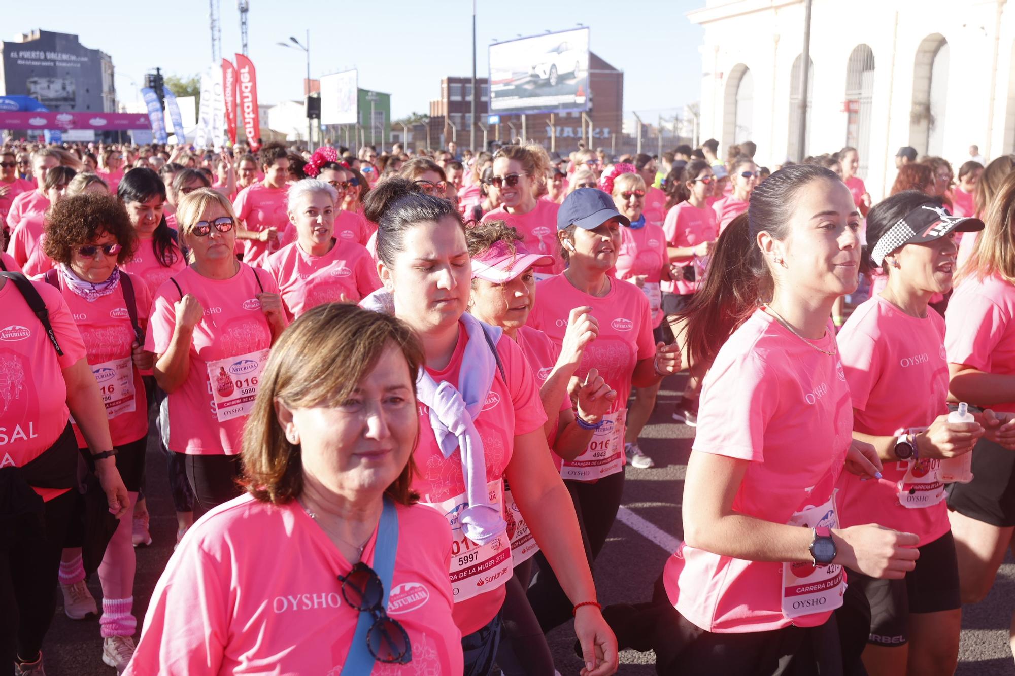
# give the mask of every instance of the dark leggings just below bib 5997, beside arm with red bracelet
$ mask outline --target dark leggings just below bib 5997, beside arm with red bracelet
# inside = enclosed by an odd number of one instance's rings
[[[530,558],[516,565],[515,574],[505,585],[497,648],[497,666],[504,676],[553,676],[553,655],[525,594],[532,578],[532,563]]]

